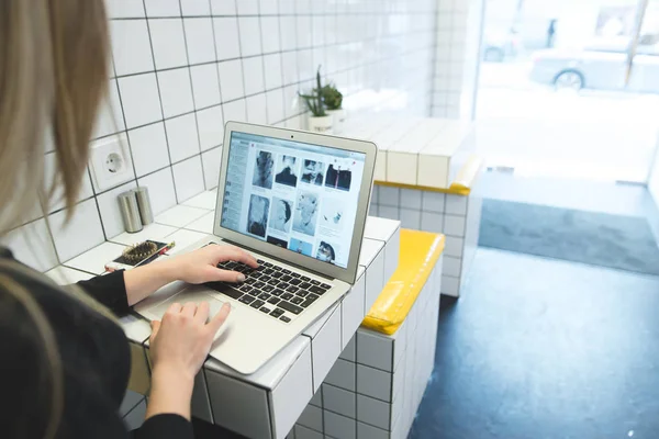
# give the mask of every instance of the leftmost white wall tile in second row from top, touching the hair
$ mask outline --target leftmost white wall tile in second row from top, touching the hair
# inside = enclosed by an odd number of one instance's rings
[[[146,20],[113,20],[110,31],[116,75],[139,74],[154,69]]]

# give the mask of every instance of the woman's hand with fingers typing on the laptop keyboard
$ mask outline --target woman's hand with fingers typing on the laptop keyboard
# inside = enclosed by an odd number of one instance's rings
[[[217,263],[227,260],[243,262],[257,268],[256,259],[247,251],[224,245],[208,245],[189,254],[171,257],[167,263],[176,280],[188,283],[243,282],[245,275],[235,271],[221,270]]]

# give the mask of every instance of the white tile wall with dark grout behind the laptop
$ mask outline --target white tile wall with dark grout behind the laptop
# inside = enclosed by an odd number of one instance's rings
[[[313,87],[319,65],[353,114],[400,98],[402,111],[429,112],[434,0],[392,0],[387,10],[375,1],[105,2],[113,66],[94,138],[127,135],[135,176],[126,187],[148,187],[156,214],[217,184],[226,121],[304,127],[298,92]],[[59,262],[122,232],[115,192],[83,193],[74,218],[83,232],[52,239]]]

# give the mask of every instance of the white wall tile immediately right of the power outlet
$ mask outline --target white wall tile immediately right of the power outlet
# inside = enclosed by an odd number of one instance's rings
[[[169,165],[165,124],[158,122],[129,131],[131,154],[137,177]]]

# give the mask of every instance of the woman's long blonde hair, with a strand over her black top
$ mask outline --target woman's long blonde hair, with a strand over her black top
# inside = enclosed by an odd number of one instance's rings
[[[57,188],[70,218],[107,93],[109,57],[103,0],[0,1],[0,236],[25,219],[36,199],[47,213]],[[44,181],[49,140],[57,160],[53,179]],[[16,263],[1,266],[48,282]],[[22,306],[29,318],[22,324],[32,325],[34,342],[45,350],[51,403],[44,437],[55,437],[64,376],[53,328],[30,292],[7,272],[0,273],[0,294]]]

